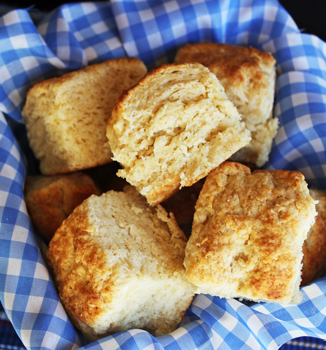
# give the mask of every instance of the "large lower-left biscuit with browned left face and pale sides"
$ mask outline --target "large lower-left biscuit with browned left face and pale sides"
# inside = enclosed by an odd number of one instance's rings
[[[91,196],[62,223],[47,260],[84,335],[177,327],[197,290],[185,277],[186,238],[174,217],[134,188]]]

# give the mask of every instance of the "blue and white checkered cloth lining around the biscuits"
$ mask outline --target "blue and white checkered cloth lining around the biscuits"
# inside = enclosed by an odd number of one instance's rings
[[[302,288],[299,305],[197,295],[171,334],[155,338],[135,329],[87,344],[44,265],[23,198],[25,176],[35,168],[21,116],[28,89],[41,79],[125,55],[150,69],[171,62],[184,44],[201,41],[252,45],[275,56],[280,129],[266,168],[301,171],[308,184],[326,189],[326,44],[300,33],[276,0],[70,4],[37,27],[27,10],[0,18],[0,300],[28,349],[272,350],[298,337],[282,348],[322,348],[325,278]]]

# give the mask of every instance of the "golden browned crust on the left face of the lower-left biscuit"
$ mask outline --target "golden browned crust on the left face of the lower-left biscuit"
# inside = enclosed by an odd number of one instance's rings
[[[91,282],[92,271],[100,270],[101,266],[105,268],[101,263],[103,252],[89,246],[87,238],[91,229],[89,221],[77,210],[59,227],[47,252],[48,262],[54,269],[59,296],[76,323],[78,320],[94,322],[104,312],[104,307],[100,307],[105,305],[101,288],[96,288],[96,283]],[[86,250],[87,257],[84,256]],[[75,278],[73,270],[78,271],[78,265],[83,274],[80,278],[85,283],[77,283],[78,279]],[[85,265],[88,266],[86,275],[83,268]]]

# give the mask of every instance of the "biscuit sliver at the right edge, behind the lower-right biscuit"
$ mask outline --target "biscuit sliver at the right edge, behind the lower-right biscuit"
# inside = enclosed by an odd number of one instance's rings
[[[301,286],[322,277],[326,270],[326,192],[310,188],[316,204],[317,216],[303,243]]]

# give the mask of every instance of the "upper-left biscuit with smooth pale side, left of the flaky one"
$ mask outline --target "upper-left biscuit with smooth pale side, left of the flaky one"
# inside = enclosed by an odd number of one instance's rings
[[[44,175],[111,162],[106,124],[117,98],[146,73],[136,58],[90,65],[35,84],[22,115]]]

